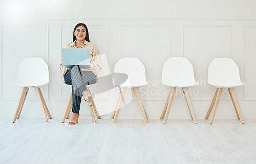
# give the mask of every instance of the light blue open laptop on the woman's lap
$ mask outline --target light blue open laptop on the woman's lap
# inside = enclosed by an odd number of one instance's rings
[[[62,48],[62,64],[66,68],[79,65],[80,68],[91,68],[89,48]]]

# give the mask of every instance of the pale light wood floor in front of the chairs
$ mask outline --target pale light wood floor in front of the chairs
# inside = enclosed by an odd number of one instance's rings
[[[0,163],[256,163],[256,120],[0,118]]]

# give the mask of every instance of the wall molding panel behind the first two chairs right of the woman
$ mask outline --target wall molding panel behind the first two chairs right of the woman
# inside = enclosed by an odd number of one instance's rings
[[[133,24],[121,25],[121,29],[121,58],[139,58],[144,64],[146,79],[149,81],[148,85],[140,87],[141,99],[165,101],[168,95],[164,95],[166,87],[159,85],[162,65],[158,63],[163,64],[171,57],[171,25]],[[158,71],[154,71],[155,69]],[[157,86],[153,87],[154,84]],[[156,96],[157,93],[161,95]],[[134,93],[132,100],[137,101]]]

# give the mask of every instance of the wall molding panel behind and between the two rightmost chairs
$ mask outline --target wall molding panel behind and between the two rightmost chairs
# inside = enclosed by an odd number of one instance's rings
[[[185,29],[188,34],[185,34]],[[190,29],[190,32],[189,32]],[[229,35],[229,36],[228,36]],[[225,37],[225,38],[224,38]],[[225,40],[225,42],[222,42]],[[186,50],[186,48],[188,49]],[[208,51],[209,50],[209,51]],[[225,52],[222,52],[225,50]],[[216,88],[208,85],[207,71],[210,62],[215,58],[232,58],[232,29],[226,25],[185,25],[183,26],[183,57],[194,67],[195,79],[205,86],[194,86],[199,97],[191,95],[194,101],[211,101]],[[203,74],[203,75],[202,75]],[[198,77],[198,78],[197,78]],[[204,83],[202,83],[204,81]],[[200,94],[201,93],[201,94]],[[208,93],[208,94],[207,94]],[[212,93],[213,95],[210,95]],[[205,96],[207,95],[207,97]],[[224,91],[220,101],[229,101]]]

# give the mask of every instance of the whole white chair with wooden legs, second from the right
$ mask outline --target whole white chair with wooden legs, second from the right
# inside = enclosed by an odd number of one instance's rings
[[[195,81],[194,69],[191,63],[186,58],[169,58],[163,65],[162,70],[162,84],[170,86],[170,92],[165,102],[162,115],[163,123],[166,123],[170,112],[170,106],[173,103],[174,95],[177,87],[182,88],[184,97],[187,102],[188,110],[191,118],[197,123],[194,108],[189,96],[187,87],[195,86],[198,83]]]

